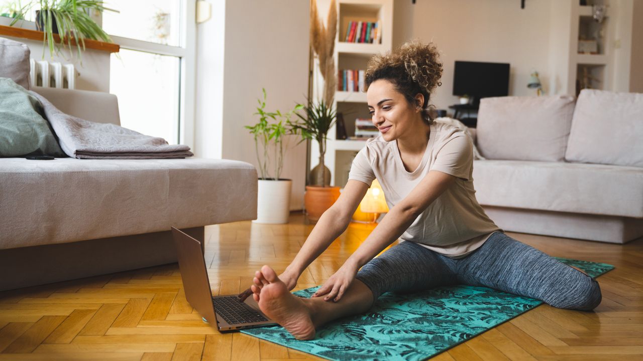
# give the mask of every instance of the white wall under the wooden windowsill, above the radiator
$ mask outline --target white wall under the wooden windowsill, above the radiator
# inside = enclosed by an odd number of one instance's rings
[[[0,17],[0,25],[8,26],[12,19]],[[21,26],[21,24],[16,24]],[[35,29],[33,22],[23,22],[23,27],[27,29]],[[60,56],[50,57],[49,48],[46,48],[43,53],[43,46],[41,40],[29,40],[23,38],[7,37],[8,39],[23,42],[32,51],[33,60],[49,60],[53,62],[60,62],[62,64],[74,64],[78,71],[76,78],[76,89],[88,91],[101,91],[109,92],[109,57],[111,53],[106,51],[99,51],[95,49],[86,49],[82,53],[82,61],[78,60],[76,53],[69,54],[65,50]],[[75,48],[73,48],[75,51]]]

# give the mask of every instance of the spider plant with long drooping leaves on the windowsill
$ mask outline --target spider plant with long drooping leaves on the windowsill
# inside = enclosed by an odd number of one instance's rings
[[[36,22],[42,22],[42,42],[48,44],[51,57],[59,53],[60,46],[64,48],[71,47],[75,42],[78,58],[81,57],[85,50],[85,40],[99,40],[103,42],[112,42],[112,39],[105,31],[96,24],[91,18],[92,11],[102,13],[105,10],[117,12],[116,10],[105,8],[104,1],[100,0],[32,0],[23,6],[21,13],[26,13],[29,9],[37,8],[40,12],[40,19]],[[19,19],[14,19],[11,25]],[[57,26],[60,35],[60,42],[54,37],[53,26]],[[44,58],[44,53],[42,54]]]

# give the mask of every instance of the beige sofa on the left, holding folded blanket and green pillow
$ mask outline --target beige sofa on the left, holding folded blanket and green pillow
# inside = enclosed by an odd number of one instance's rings
[[[111,94],[32,88],[60,110],[119,123]],[[0,290],[176,261],[170,227],[257,217],[257,171],[215,159],[0,158]]]

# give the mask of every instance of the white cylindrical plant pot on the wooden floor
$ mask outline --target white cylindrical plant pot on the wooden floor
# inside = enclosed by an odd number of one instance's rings
[[[259,179],[257,219],[253,223],[284,224],[290,215],[290,179]]]

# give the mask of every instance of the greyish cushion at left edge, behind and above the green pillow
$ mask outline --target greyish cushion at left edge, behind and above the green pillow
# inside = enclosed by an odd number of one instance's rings
[[[0,78],[12,78],[29,89],[29,54],[25,44],[0,38]]]

